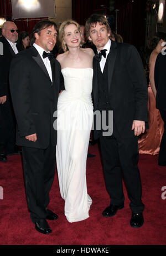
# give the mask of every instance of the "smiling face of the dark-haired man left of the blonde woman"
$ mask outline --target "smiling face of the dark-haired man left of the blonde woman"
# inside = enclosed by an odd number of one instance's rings
[[[40,31],[40,35],[35,33],[35,43],[42,47],[46,52],[52,51],[56,43],[57,34],[58,32],[54,26],[44,28]]]

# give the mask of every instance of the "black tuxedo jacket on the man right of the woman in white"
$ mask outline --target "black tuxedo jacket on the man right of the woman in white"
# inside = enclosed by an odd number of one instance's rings
[[[113,110],[113,129],[121,138],[134,136],[134,120],[148,122],[147,81],[137,49],[126,43],[111,41],[107,56],[108,98]],[[98,110],[97,59],[94,58],[94,111]],[[94,139],[99,137],[94,131]]]

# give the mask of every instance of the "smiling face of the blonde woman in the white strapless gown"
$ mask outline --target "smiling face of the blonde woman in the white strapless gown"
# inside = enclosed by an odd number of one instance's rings
[[[64,29],[64,42],[68,48],[75,48],[80,46],[81,34],[75,24],[69,24]]]

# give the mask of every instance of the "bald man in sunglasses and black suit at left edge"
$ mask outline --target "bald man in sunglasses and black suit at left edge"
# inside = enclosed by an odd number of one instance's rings
[[[3,44],[3,54],[0,55],[0,160],[3,162],[7,161],[6,155],[19,153],[15,147],[16,124],[9,93],[9,68],[12,58],[20,50],[17,47],[17,39],[18,29],[15,23],[4,22],[0,38]]]

